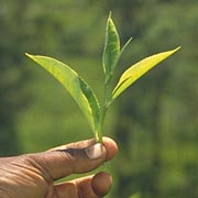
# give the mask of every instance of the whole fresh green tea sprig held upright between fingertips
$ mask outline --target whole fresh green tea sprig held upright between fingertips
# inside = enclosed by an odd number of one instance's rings
[[[106,78],[105,96],[101,106],[99,105],[99,101],[90,86],[78,75],[77,72],[72,69],[68,65],[52,57],[26,54],[28,57],[51,73],[67,89],[67,91],[84,112],[98,142],[102,142],[106,113],[110,105],[118,98],[118,96],[120,96],[141,76],[180,48],[177,47],[173,51],[148,56],[141,62],[130,66],[121,75],[118,84],[111,90],[111,79],[117,68],[118,62],[131,40],[132,38],[130,38],[121,48],[120,37],[110,13],[106,26],[106,41],[102,54],[102,67]]]

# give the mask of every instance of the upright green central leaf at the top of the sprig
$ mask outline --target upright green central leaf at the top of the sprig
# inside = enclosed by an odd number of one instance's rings
[[[109,79],[112,76],[119,56],[120,56],[120,38],[110,13],[107,21],[106,42],[105,42],[105,50],[102,55],[102,65],[106,74],[106,79]]]

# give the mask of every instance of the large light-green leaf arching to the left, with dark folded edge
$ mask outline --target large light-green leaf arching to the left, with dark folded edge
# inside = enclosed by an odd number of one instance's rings
[[[87,118],[96,138],[99,139],[100,107],[89,85],[69,66],[57,59],[47,56],[33,56],[30,54],[26,54],[26,56],[51,73],[68,90]]]

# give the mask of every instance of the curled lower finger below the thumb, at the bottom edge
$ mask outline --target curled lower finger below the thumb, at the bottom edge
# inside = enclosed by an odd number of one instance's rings
[[[64,198],[100,198],[106,196],[111,187],[112,178],[107,173],[99,173],[64,184],[56,185],[57,197]]]

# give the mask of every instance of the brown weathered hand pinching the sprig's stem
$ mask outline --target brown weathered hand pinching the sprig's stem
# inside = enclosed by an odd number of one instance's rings
[[[100,198],[108,194],[111,176],[95,176],[54,184],[70,174],[90,172],[118,152],[103,138],[102,144],[87,140],[36,154],[0,158],[0,198]]]

